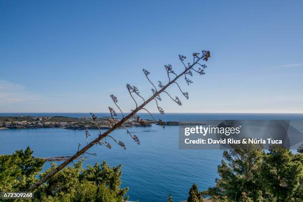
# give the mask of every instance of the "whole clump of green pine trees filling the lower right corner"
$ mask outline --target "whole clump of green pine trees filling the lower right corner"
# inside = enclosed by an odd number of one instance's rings
[[[303,201],[303,154],[282,146],[265,153],[260,145],[233,145],[223,152],[218,174],[216,186],[203,192],[218,201]]]

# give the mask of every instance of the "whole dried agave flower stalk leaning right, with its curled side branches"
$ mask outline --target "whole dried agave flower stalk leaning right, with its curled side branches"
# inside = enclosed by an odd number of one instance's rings
[[[208,50],[202,50],[201,54],[194,52],[193,53],[193,63],[187,63],[187,65],[184,63],[186,56],[183,55],[179,55],[179,59],[182,62],[182,64],[184,65],[185,69],[180,73],[180,74],[176,74],[173,70],[172,70],[172,66],[170,64],[168,65],[164,65],[166,73],[167,73],[167,77],[168,77],[168,83],[166,85],[163,85],[163,83],[161,81],[158,81],[159,85],[158,87],[160,88],[159,90],[157,90],[157,88],[155,87],[155,85],[152,83],[151,79],[149,78],[149,74],[150,72],[146,69],[143,69],[143,72],[146,76],[146,78],[148,79],[148,81],[152,84],[152,96],[145,100],[139,93],[139,90],[137,87],[135,86],[131,86],[129,84],[126,85],[126,88],[130,94],[130,96],[132,97],[133,101],[136,104],[136,108],[133,109],[131,111],[131,113],[129,113],[128,115],[124,116],[122,110],[120,109],[120,107],[118,106],[118,99],[117,97],[115,97],[114,95],[110,95],[112,101],[114,102],[114,104],[117,106],[117,108],[119,109],[119,111],[122,113],[122,119],[117,120],[115,117],[117,116],[115,110],[112,107],[108,107],[109,112],[110,112],[110,116],[111,116],[111,121],[107,120],[110,128],[106,131],[104,131],[103,133],[101,133],[101,128],[99,127],[98,123],[97,123],[97,116],[93,113],[91,113],[92,115],[92,119],[94,120],[96,126],[98,127],[99,130],[99,136],[93,140],[92,142],[89,143],[88,137],[90,136],[88,132],[86,132],[86,138],[87,138],[87,142],[88,144],[86,146],[84,146],[81,150],[80,149],[80,144],[78,146],[78,152],[76,152],[74,155],[72,155],[71,157],[69,157],[68,159],[66,159],[63,163],[61,163],[60,165],[58,165],[54,170],[52,170],[50,173],[48,173],[45,177],[43,177],[42,179],[40,179],[40,181],[36,182],[35,184],[33,184],[27,191],[33,191],[35,190],[37,187],[39,187],[40,185],[42,185],[44,182],[46,182],[51,176],[55,175],[57,172],[59,172],[61,169],[63,169],[65,166],[67,166],[70,162],[72,162],[73,160],[75,160],[78,156],[84,154],[84,153],[88,153],[86,152],[88,149],[90,149],[92,146],[94,145],[104,145],[107,148],[111,148],[110,144],[108,142],[102,142],[103,138],[109,137],[111,138],[115,143],[117,143],[120,147],[122,147],[124,150],[126,150],[126,146],[123,142],[121,141],[117,141],[115,140],[112,136],[110,136],[109,134],[114,131],[115,129],[119,128],[119,127],[123,127],[124,129],[126,129],[127,133],[132,137],[132,139],[137,143],[140,144],[139,138],[136,135],[132,135],[128,129],[123,126],[123,123],[126,122],[127,120],[129,120],[130,118],[132,118],[133,120],[135,120],[137,123],[140,123],[142,125],[144,125],[144,121],[142,119],[140,119],[140,117],[136,114],[138,111],[140,110],[146,110],[151,116],[152,114],[146,109],[144,108],[149,102],[151,102],[152,100],[156,101],[156,105],[157,105],[157,109],[160,112],[160,114],[164,114],[164,110],[158,106],[158,101],[161,101],[160,98],[160,94],[161,93],[166,93],[174,102],[176,102],[178,105],[182,105],[180,99],[176,96],[175,99],[173,99],[165,90],[167,89],[167,87],[169,87],[172,84],[176,84],[179,88],[179,90],[181,91],[181,93],[183,94],[183,96],[188,99],[189,95],[187,92],[183,92],[179,86],[179,84],[176,82],[180,77],[184,76],[184,79],[186,81],[186,83],[188,85],[190,85],[191,83],[193,83],[193,81],[191,81],[188,77],[192,77],[193,76],[193,71],[199,73],[200,75],[204,74],[204,69],[206,68],[205,64],[201,64],[200,61],[207,61],[208,58],[210,57],[210,52]],[[195,69],[194,67],[199,66],[198,69]],[[173,76],[174,78],[171,78],[171,76]],[[143,103],[141,105],[138,106],[138,102],[135,100],[135,98],[133,97],[133,94],[136,94],[136,96],[140,97],[143,100]],[[152,118],[155,120],[155,118],[152,116]],[[163,126],[163,121],[160,120],[155,120],[159,125]],[[164,126],[163,126],[164,127]],[[88,154],[92,154],[92,155],[96,155],[96,153],[88,153]]]

